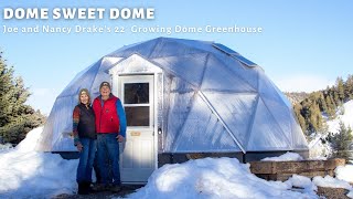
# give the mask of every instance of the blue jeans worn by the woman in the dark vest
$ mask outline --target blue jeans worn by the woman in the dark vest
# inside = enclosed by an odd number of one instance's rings
[[[96,139],[79,138],[79,142],[83,146],[83,149],[79,153],[76,181],[92,182],[92,169],[96,155]]]

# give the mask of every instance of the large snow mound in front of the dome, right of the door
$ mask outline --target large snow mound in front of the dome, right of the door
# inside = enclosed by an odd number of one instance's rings
[[[164,165],[129,198],[317,198],[289,190],[293,184],[257,178],[235,158],[205,158]]]

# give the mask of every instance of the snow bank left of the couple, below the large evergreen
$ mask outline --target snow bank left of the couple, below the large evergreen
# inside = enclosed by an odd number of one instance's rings
[[[0,198],[51,198],[76,189],[78,160],[34,151],[41,133],[31,130],[15,148],[0,154]]]

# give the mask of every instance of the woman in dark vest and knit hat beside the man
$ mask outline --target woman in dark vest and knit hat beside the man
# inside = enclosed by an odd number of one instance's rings
[[[78,105],[73,113],[74,144],[79,151],[76,181],[78,195],[88,195],[92,184],[92,169],[96,154],[95,113],[90,106],[88,90],[78,93]]]

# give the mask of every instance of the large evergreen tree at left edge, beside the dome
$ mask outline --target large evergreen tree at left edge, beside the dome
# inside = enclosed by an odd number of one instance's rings
[[[25,105],[30,96],[21,77],[13,76],[0,53],[0,138],[4,143],[18,144],[28,132],[44,123],[45,117]]]

